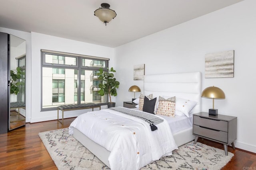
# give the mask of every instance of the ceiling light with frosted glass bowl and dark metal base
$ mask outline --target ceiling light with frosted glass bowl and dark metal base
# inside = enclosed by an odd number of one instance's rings
[[[107,26],[107,23],[116,17],[116,12],[109,9],[110,5],[107,3],[102,3],[100,6],[101,8],[94,11],[94,15]]]

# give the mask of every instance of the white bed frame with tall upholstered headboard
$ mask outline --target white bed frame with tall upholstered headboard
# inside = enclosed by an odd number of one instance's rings
[[[153,97],[176,96],[193,100],[197,102],[193,113],[198,113],[201,111],[201,82],[201,72],[145,75],[144,95],[153,94]],[[82,145],[110,167],[108,163],[110,151],[94,143],[76,128],[74,128],[73,135]],[[179,131],[173,136],[178,147],[195,139],[195,136],[192,135],[192,127]]]

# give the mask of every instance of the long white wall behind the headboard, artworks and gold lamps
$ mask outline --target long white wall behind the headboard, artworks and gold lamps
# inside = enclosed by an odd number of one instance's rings
[[[200,71],[202,90],[214,85],[226,94],[225,100],[215,100],[219,114],[238,117],[235,146],[256,152],[255,8],[255,0],[245,0],[117,47],[120,88],[116,105],[122,106],[123,101],[133,98],[134,93],[128,92],[132,85],[138,85],[143,92],[143,80],[133,80],[136,64],[145,64],[145,74]],[[228,50],[235,51],[234,78],[204,78],[205,54]],[[202,111],[208,112],[211,107],[212,100],[202,98]]]

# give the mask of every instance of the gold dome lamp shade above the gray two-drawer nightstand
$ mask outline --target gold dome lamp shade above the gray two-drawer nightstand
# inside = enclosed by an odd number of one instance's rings
[[[203,98],[225,99],[225,93],[218,87],[211,86],[202,91]]]

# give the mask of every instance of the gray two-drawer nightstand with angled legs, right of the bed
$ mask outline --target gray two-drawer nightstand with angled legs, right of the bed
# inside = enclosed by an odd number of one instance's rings
[[[206,112],[193,115],[193,135],[198,137],[223,143],[225,154],[228,155],[228,145],[232,145],[235,150],[234,141],[236,140],[237,117],[220,115],[212,116]]]

